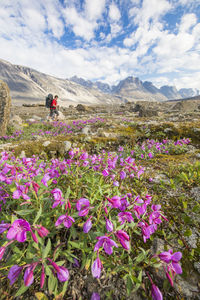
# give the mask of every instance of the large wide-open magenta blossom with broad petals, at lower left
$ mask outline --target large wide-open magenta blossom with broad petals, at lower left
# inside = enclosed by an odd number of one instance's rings
[[[23,243],[26,241],[27,231],[31,231],[30,224],[27,221],[23,219],[15,220],[7,232],[7,239],[14,239],[18,242]]]

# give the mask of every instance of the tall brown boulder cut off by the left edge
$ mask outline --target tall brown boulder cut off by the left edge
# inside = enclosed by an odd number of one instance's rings
[[[6,134],[10,119],[11,97],[5,82],[0,80],[0,136]]]

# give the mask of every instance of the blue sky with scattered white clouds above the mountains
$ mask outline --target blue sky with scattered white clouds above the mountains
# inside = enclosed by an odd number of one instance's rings
[[[64,79],[200,90],[200,0],[0,0],[0,59]]]

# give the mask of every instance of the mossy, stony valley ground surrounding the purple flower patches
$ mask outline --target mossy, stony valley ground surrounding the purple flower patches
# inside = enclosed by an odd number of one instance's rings
[[[163,284],[164,299],[200,299],[200,102],[166,103],[165,105],[145,104],[140,108],[133,104],[110,107],[60,108],[62,122],[72,124],[73,120],[88,120],[96,116],[106,120],[105,124],[87,124],[79,131],[66,136],[41,136],[28,134],[27,125],[38,129],[38,123],[45,121],[48,109],[43,106],[13,106],[8,131],[26,130],[25,139],[0,141],[0,150],[14,149],[19,156],[40,155],[44,159],[65,155],[72,146],[82,146],[88,151],[134,146],[145,139],[190,138],[186,153],[158,155],[151,160],[141,160],[146,169],[142,184],[149,193],[161,201],[170,226],[159,230],[153,241],[152,253],[164,250],[166,246],[183,252],[182,276],[177,276],[174,289],[166,281],[163,270],[158,270],[157,283]],[[16,117],[19,117],[18,119]],[[48,123],[51,124],[51,123]],[[9,133],[9,132],[8,132]],[[148,178],[151,177],[150,182]],[[164,225],[163,225],[164,226]],[[164,233],[166,230],[167,234]],[[143,291],[126,297],[121,278],[109,277],[101,282],[93,280],[87,273],[74,274],[73,285],[69,287],[66,299],[87,299],[92,285],[98,291],[108,286],[121,291],[115,299],[146,299]],[[122,288],[123,287],[123,288]],[[82,290],[82,292],[80,292]],[[72,292],[73,291],[73,292]],[[81,296],[82,295],[82,296]],[[84,296],[83,296],[84,295]],[[80,298],[83,297],[83,298]],[[9,299],[5,295],[2,299]],[[25,298],[23,298],[25,299]],[[35,299],[35,298],[34,298]],[[112,296],[107,299],[113,299]]]

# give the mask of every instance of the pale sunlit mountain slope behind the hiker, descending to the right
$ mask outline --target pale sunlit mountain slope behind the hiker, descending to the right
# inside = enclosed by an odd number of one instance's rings
[[[58,94],[60,104],[105,104],[119,101],[114,96],[105,95],[97,89],[85,88],[70,80],[56,78],[34,69],[12,65],[0,60],[0,78],[5,81],[11,98],[20,103],[44,101],[47,94]]]

